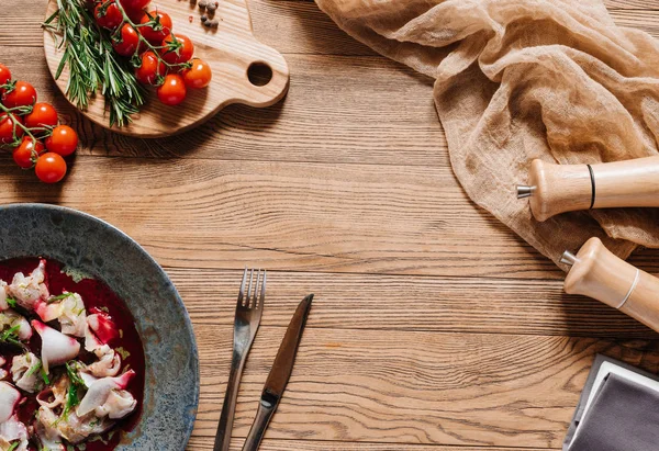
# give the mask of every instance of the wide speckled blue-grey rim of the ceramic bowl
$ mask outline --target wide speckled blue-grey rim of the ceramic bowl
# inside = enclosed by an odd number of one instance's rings
[[[144,407],[116,451],[181,451],[199,403],[199,357],[188,312],[174,284],[137,243],[75,210],[0,207],[0,260],[45,257],[102,280],[131,309],[146,357]]]

